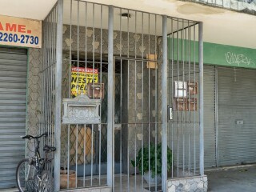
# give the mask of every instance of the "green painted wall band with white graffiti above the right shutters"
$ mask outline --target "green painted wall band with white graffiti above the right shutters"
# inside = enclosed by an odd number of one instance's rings
[[[174,58],[174,60],[178,58],[179,61],[198,62],[198,42],[192,41],[189,44],[187,40],[177,41],[176,38],[168,38],[168,46],[168,58]],[[179,55],[177,55],[177,50],[179,50]],[[254,49],[204,42],[203,51],[205,65],[256,69],[256,50]]]

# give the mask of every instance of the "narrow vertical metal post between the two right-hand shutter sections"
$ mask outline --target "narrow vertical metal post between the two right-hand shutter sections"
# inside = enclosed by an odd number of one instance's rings
[[[216,166],[219,165],[218,158],[218,67],[215,70],[215,127],[216,127]]]

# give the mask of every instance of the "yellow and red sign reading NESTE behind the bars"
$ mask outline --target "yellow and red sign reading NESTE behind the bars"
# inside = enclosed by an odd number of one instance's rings
[[[71,95],[86,94],[89,82],[98,82],[98,69],[72,66]]]

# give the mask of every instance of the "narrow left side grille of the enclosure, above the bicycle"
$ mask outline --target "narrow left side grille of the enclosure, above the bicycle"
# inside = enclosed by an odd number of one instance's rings
[[[54,8],[47,15],[42,23],[43,33],[43,60],[41,78],[41,110],[39,119],[39,133],[49,133],[48,138],[41,139],[41,154],[43,146],[54,146],[54,126],[55,126],[55,67],[56,67],[56,41],[57,41],[57,8]],[[54,158],[54,154],[50,154],[50,158]],[[53,170],[53,163],[47,165]]]

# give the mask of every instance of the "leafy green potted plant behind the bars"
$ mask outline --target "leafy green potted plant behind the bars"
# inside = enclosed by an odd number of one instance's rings
[[[136,162],[135,162],[136,160]],[[147,171],[152,171],[152,177],[162,174],[162,143],[154,145],[150,143],[149,146],[144,146],[138,150],[138,155],[135,160],[131,160],[131,164],[138,167],[140,174]],[[167,171],[170,170],[172,164],[172,153],[167,146]]]

